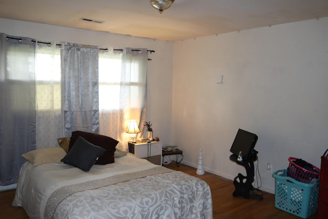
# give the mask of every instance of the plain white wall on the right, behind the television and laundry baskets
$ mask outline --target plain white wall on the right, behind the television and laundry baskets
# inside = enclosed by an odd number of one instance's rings
[[[262,188],[266,170],[290,156],[320,168],[328,143],[328,18],[174,43],[172,142],[185,164],[233,178],[229,160],[238,128],[258,135]],[[223,75],[223,84],[221,82]]]

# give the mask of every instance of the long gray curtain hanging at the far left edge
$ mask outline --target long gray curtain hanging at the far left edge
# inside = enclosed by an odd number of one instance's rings
[[[0,185],[17,182],[35,149],[35,44],[0,33]]]

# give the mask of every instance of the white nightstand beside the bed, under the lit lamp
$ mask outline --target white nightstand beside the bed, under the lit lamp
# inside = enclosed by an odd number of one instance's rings
[[[136,157],[146,159],[153,164],[162,164],[162,142],[132,143],[128,142],[129,152]],[[150,156],[148,156],[150,155]]]

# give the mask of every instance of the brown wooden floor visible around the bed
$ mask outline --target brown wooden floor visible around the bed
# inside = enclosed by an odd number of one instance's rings
[[[199,177],[209,184],[212,192],[213,218],[300,218],[298,216],[275,208],[274,194],[264,192],[262,201],[255,200],[253,198],[245,199],[243,197],[233,197],[232,193],[235,187],[233,185],[233,182],[230,180],[226,180],[210,173],[205,173],[204,175],[197,175],[195,168],[182,164],[180,164],[180,167],[177,167],[174,162],[164,166],[170,169],[179,170],[182,172],[186,172],[190,175]],[[15,190],[0,192],[0,219],[28,218],[23,208],[11,206],[14,195]],[[315,219],[316,215],[312,215],[308,218]]]

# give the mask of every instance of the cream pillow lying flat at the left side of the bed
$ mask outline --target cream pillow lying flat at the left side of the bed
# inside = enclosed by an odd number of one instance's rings
[[[39,148],[22,154],[25,160],[34,166],[40,164],[60,163],[60,160],[65,155],[66,152],[61,147]]]

